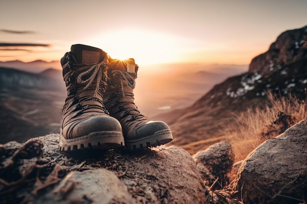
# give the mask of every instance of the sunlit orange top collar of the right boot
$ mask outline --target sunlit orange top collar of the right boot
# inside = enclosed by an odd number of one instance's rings
[[[129,58],[127,60],[119,60],[119,59],[111,59],[109,57],[109,68],[111,70],[120,70],[120,71],[126,71],[130,73],[137,73],[138,66],[135,64],[135,61],[133,58]]]

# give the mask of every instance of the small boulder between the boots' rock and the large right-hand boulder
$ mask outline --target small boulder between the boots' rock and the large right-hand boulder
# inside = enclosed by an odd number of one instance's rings
[[[218,179],[220,187],[229,183],[228,174],[231,171],[234,162],[234,154],[231,144],[227,141],[221,141],[196,153],[193,156],[196,163],[202,163]]]

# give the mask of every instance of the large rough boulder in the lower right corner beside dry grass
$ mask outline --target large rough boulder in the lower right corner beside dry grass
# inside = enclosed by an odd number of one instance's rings
[[[307,195],[307,120],[258,146],[244,160],[233,189],[244,204],[298,204]]]

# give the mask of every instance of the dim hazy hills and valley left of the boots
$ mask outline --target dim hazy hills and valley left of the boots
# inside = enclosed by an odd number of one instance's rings
[[[0,143],[58,133],[66,97],[63,84],[60,70],[35,74],[0,68]]]

